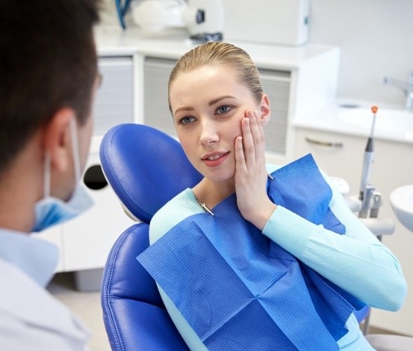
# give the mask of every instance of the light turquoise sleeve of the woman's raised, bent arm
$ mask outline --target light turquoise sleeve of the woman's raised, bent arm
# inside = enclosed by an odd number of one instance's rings
[[[367,305],[399,310],[407,284],[398,259],[350,211],[336,187],[330,186],[329,206],[346,226],[346,234],[326,230],[282,206],[277,206],[263,234]]]

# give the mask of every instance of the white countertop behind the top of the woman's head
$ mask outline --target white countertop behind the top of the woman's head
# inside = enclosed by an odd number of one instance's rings
[[[122,30],[118,26],[98,26],[95,29],[95,38],[99,55],[143,53],[156,55],[159,58],[180,58],[191,48],[199,45],[182,34],[152,34],[149,36],[136,27]],[[299,47],[252,44],[240,41],[232,41],[232,44],[247,51],[260,68],[281,70],[297,69],[303,62],[317,55],[332,50],[339,51],[337,46],[318,44]]]

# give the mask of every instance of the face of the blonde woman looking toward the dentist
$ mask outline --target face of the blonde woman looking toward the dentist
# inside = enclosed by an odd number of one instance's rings
[[[193,166],[213,182],[233,182],[235,138],[249,109],[261,102],[228,67],[201,67],[181,73],[170,86],[173,121]]]

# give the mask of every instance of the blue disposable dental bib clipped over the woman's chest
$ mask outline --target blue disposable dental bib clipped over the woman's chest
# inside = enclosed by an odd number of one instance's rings
[[[337,234],[332,190],[311,155],[272,173],[268,194]],[[235,194],[138,256],[209,350],[338,350],[363,304],[242,218]]]

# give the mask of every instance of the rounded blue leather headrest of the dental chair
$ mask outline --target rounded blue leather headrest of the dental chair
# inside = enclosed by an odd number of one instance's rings
[[[142,124],[119,124],[107,131],[100,144],[100,162],[119,200],[145,223],[176,194],[202,179],[177,140]]]

